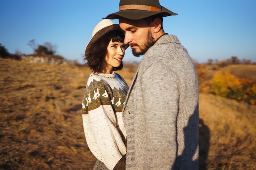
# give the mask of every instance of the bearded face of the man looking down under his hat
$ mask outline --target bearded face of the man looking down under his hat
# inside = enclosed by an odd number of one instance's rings
[[[154,45],[153,27],[144,20],[129,20],[119,17],[119,25],[125,32],[124,44],[129,44],[132,54],[139,57]]]

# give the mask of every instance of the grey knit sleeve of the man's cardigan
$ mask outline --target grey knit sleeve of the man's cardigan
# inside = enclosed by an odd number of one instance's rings
[[[156,68],[162,68],[155,74]],[[150,83],[148,83],[150,80]],[[179,102],[177,75],[163,63],[145,70],[141,79],[146,122],[144,169],[171,169],[176,159]]]

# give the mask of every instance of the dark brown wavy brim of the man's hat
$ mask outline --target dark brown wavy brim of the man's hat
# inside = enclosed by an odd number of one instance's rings
[[[162,6],[161,6],[162,7]],[[122,10],[118,11],[116,13],[109,14],[107,17],[103,19],[118,19],[119,17],[124,17],[130,20],[140,20],[146,17],[150,17],[153,15],[160,15],[162,17],[167,17],[171,15],[178,15],[177,13],[174,13],[165,7],[162,7],[162,11],[144,11],[144,10],[137,10],[137,9],[128,9],[128,10]]]

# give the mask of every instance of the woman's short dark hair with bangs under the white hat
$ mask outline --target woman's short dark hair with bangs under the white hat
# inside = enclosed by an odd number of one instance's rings
[[[84,61],[93,70],[94,73],[100,72],[101,64],[104,62],[107,48],[110,41],[124,42],[124,33],[122,31],[110,31],[103,35],[97,42],[94,43],[94,48],[88,51],[88,55],[85,56]],[[123,68],[123,62],[117,68],[113,68],[113,71],[121,70]]]

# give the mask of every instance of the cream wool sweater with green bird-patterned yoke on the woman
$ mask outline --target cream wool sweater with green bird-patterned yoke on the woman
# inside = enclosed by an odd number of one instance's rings
[[[117,73],[90,74],[82,103],[83,128],[93,155],[113,169],[126,154],[122,109],[128,85]]]

